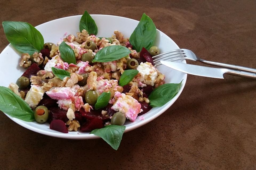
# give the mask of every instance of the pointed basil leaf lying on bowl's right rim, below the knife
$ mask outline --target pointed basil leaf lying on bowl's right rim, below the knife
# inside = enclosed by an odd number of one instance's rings
[[[167,83],[155,88],[149,95],[150,106],[161,107],[170,101],[179,91],[181,83]]]

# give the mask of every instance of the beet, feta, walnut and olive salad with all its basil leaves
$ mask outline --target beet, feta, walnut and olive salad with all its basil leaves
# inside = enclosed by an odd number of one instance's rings
[[[10,116],[49,122],[50,129],[63,133],[90,132],[117,149],[125,121],[143,120],[142,114],[179,91],[181,83],[165,84],[165,75],[154,67],[152,56],[159,54],[153,46],[156,28],[145,14],[130,38],[121,30],[97,37],[97,25],[87,11],[80,32],[56,44],[44,43],[29,23],[6,21],[3,27],[9,42],[22,52],[19,65],[27,68],[9,88],[0,87],[0,110]],[[24,28],[29,43],[14,38]],[[114,134],[111,139],[108,133]]]

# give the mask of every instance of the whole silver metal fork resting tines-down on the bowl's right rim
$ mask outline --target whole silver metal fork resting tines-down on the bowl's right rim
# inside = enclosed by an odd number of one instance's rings
[[[191,50],[188,50],[188,49],[176,49],[166,53],[159,54],[152,58],[154,59],[153,62],[155,63],[155,66],[161,65],[160,60],[166,60],[166,61],[192,60],[192,61],[200,61],[202,63],[213,65],[213,66],[219,66],[219,67],[225,67],[225,68],[234,69],[234,70],[242,70],[242,71],[256,73],[256,69],[249,68],[249,67],[203,60],[197,57],[195,53],[193,53]]]

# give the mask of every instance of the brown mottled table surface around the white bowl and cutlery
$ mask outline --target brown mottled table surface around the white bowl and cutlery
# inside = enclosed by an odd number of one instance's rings
[[[1,1],[0,21],[36,26],[85,9],[135,20],[145,12],[180,48],[205,60],[256,67],[256,3],[249,0]],[[0,39],[2,51],[9,44],[2,26]],[[253,79],[188,75],[178,100],[125,133],[117,151],[102,139],[35,133],[0,114],[0,169],[256,169],[255,96]]]

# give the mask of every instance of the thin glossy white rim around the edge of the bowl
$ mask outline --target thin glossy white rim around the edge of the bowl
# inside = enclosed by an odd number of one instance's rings
[[[136,22],[139,22],[138,20],[135,20],[135,19],[131,19],[131,18],[126,18],[126,17],[123,17],[123,16],[115,16],[115,15],[103,15],[103,14],[90,14],[91,16],[111,16],[111,17],[117,17],[117,18],[124,18],[124,19],[129,19],[129,20],[134,20]],[[48,22],[45,22],[45,23],[42,23],[42,24],[39,24],[37,26],[35,26],[35,28],[43,25],[43,24],[47,24],[49,22],[53,22],[55,20],[61,20],[61,19],[65,19],[65,18],[72,18],[72,17],[78,17],[78,16],[82,16],[82,15],[73,15],[73,16],[66,16],[66,17],[62,17],[62,18],[57,18],[57,19],[54,19],[54,20],[51,20],[51,21],[48,21]],[[163,33],[162,31],[160,31],[159,29],[157,29],[157,31],[159,31],[161,34],[167,36],[165,33]],[[167,36],[170,41],[175,45],[177,46],[177,49],[179,48],[179,46],[169,37]],[[5,50],[7,50],[7,48],[11,47],[11,44],[8,44],[1,53],[3,53]],[[182,60],[183,63],[186,63],[186,60]],[[134,130],[134,129],[137,129],[149,122],[151,122],[152,120],[154,120],[155,118],[157,118],[158,116],[160,116],[162,113],[164,113],[168,108],[171,107],[171,105],[173,105],[173,103],[178,99],[178,97],[181,95],[181,92],[183,91],[184,87],[185,87],[185,84],[186,84],[186,80],[187,80],[187,74],[184,73],[184,79],[182,80],[182,84],[181,84],[181,88],[179,90],[179,92],[175,95],[175,97],[173,97],[173,99],[171,99],[168,103],[166,103],[165,105],[163,105],[162,109],[157,112],[154,116],[151,116],[143,121],[139,121],[138,123],[134,124],[134,125],[131,125],[129,127],[126,127],[125,129],[125,132],[129,132],[131,130]],[[54,132],[54,131],[45,131],[45,130],[42,130],[42,129],[38,129],[38,128],[35,128],[33,126],[31,126],[30,124],[24,124],[24,121],[18,119],[18,118],[14,118],[14,117],[11,117],[9,116],[8,114],[5,113],[5,115],[7,117],[9,117],[11,120],[13,120],[15,123],[23,126],[24,128],[26,129],[29,129],[31,131],[34,131],[34,132],[37,132],[37,133],[40,133],[40,134],[43,134],[43,135],[47,135],[47,136],[51,136],[51,137],[57,137],[57,138],[65,138],[65,139],[97,139],[97,138],[100,138],[94,134],[79,134],[79,131],[78,134],[70,134],[70,133],[59,133],[58,131]]]

